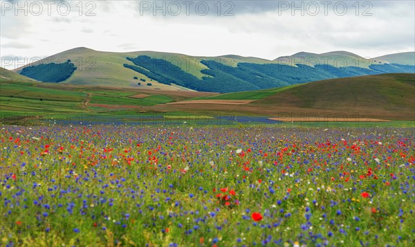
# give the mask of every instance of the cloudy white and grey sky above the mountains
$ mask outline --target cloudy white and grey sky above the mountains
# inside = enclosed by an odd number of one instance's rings
[[[415,51],[412,0],[0,2],[3,67],[6,57],[22,62],[78,46],[269,60],[299,51]]]

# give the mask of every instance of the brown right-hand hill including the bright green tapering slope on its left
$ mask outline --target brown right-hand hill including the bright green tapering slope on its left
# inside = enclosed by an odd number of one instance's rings
[[[255,100],[251,104],[305,108],[415,107],[415,74],[347,77],[283,86],[276,89],[221,93],[191,100]],[[415,110],[415,109],[414,109]]]

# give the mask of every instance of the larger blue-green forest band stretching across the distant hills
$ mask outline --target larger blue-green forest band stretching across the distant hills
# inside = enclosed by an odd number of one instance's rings
[[[335,67],[317,64],[306,66],[296,64],[253,64],[239,63],[237,67],[226,66],[213,60],[202,60],[201,64],[208,69],[201,70],[201,79],[183,71],[167,60],[149,56],[127,57],[134,65],[124,64],[126,68],[142,73],[152,80],[163,84],[178,84],[196,91],[212,91],[228,93],[236,91],[252,91],[288,86],[316,80],[326,80],[338,77],[353,77],[360,75],[375,75],[379,73],[407,73],[415,71],[415,66],[399,64],[377,64],[370,68],[357,66]]]

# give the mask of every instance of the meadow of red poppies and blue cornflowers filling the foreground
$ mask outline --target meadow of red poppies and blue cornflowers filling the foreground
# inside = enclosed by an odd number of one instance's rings
[[[403,128],[0,130],[0,246],[414,246]]]

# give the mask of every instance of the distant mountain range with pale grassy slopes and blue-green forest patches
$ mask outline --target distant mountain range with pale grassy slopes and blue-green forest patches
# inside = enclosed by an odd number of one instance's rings
[[[228,93],[338,77],[415,73],[411,54],[415,53],[385,55],[375,62],[347,51],[302,52],[271,61],[238,55],[192,57],[74,48],[18,68],[17,72],[43,82]]]

